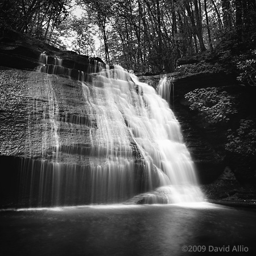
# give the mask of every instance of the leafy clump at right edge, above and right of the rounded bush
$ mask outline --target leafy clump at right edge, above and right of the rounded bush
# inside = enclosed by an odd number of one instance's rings
[[[256,50],[251,51],[251,56],[240,55],[237,68],[240,76],[237,80],[243,84],[256,85]]]

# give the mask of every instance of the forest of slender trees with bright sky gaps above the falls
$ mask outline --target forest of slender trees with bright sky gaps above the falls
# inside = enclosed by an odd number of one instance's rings
[[[135,72],[180,57],[229,61],[255,85],[255,0],[2,0],[0,26]]]

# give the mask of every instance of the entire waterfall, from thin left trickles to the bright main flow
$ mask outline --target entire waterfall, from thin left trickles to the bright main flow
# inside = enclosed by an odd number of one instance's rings
[[[65,98],[67,79],[53,82],[46,73],[71,71],[57,57],[56,67],[48,67],[44,53],[42,61],[44,82],[30,90],[22,200],[37,206],[118,203],[138,194],[144,203],[203,200],[180,125],[154,88],[121,67],[97,63],[90,71],[99,72],[86,80],[79,72]],[[72,101],[75,90],[80,102]]]

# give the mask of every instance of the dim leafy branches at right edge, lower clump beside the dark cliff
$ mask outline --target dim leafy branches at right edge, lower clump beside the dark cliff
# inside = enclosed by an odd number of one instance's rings
[[[226,150],[245,156],[256,155],[256,125],[252,120],[242,119],[236,131],[228,130]]]

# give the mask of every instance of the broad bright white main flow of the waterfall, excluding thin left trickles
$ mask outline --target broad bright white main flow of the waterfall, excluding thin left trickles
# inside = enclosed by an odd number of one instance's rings
[[[104,180],[106,171],[133,168],[133,142],[143,159],[149,190],[157,176],[156,191],[164,194],[168,203],[203,200],[179,122],[154,88],[121,67],[102,70],[94,76],[92,87],[83,84],[98,125],[92,131],[93,150],[105,159],[92,165],[93,170],[102,171],[98,179]],[[115,177],[111,182],[116,182]],[[157,199],[158,193],[152,194],[153,203],[154,197]]]

